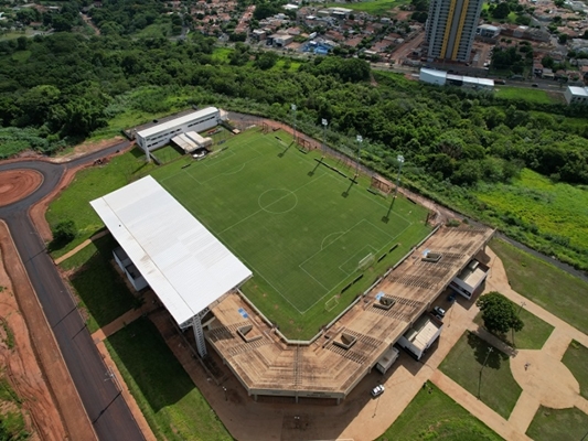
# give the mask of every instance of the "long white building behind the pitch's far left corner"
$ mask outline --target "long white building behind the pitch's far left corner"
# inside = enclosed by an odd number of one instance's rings
[[[137,132],[137,143],[143,151],[153,151],[170,142],[179,133],[203,131],[216,127],[221,122],[221,111],[216,107],[194,111],[183,117],[150,127]]]

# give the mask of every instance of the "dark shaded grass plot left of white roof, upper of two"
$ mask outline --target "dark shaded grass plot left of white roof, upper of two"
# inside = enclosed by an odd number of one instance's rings
[[[74,271],[70,283],[88,313],[89,332],[97,331],[138,304],[137,298],[129,292],[109,261],[114,247],[113,236],[104,236],[61,265],[63,269]]]

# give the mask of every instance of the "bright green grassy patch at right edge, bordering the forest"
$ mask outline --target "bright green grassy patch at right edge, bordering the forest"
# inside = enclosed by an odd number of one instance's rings
[[[482,185],[475,196],[500,213],[512,213],[541,233],[569,238],[570,245],[588,249],[588,189],[523,169],[511,184]]]

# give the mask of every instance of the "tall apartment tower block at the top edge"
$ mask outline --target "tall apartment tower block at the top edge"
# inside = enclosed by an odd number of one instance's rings
[[[483,0],[431,0],[427,20],[429,58],[469,62]]]

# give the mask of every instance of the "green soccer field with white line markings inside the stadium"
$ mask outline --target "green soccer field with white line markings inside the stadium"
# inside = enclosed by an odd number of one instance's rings
[[[153,178],[252,269],[244,291],[263,312],[300,330],[334,316],[351,299],[338,297],[332,311],[325,302],[374,271],[394,245],[409,248],[429,229],[426,211],[404,198],[384,222],[389,200],[320,164],[316,153],[287,149],[290,140],[252,129],[203,161],[174,162]],[[297,320],[308,314],[318,321]]]

